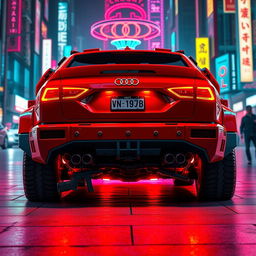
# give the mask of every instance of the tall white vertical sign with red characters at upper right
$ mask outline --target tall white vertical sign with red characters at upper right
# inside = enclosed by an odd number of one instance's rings
[[[253,81],[251,1],[238,0],[241,82]]]

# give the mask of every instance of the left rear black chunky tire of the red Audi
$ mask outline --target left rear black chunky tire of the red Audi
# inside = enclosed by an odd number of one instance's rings
[[[25,196],[32,202],[52,202],[60,199],[54,165],[40,164],[24,153],[23,185]]]

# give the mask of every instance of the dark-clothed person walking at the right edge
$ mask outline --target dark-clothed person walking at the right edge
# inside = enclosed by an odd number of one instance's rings
[[[242,118],[240,126],[241,139],[244,138],[248,165],[252,164],[252,156],[250,152],[251,141],[255,147],[256,155],[256,115],[252,113],[252,106],[246,106],[246,115]]]

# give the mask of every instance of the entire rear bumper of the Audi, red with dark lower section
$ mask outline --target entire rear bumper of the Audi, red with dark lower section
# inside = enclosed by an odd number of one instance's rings
[[[97,157],[157,156],[177,148],[195,151],[207,161],[224,157],[226,132],[219,124],[204,123],[95,123],[49,124],[20,134],[20,147],[40,163],[59,152],[93,150]],[[134,153],[135,152],[135,153]],[[137,155],[136,155],[137,154]]]

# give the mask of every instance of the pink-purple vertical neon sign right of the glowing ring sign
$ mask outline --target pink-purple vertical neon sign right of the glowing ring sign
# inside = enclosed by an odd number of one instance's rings
[[[160,35],[148,42],[149,49],[164,48],[164,2],[163,0],[148,0],[148,19],[160,28]]]

